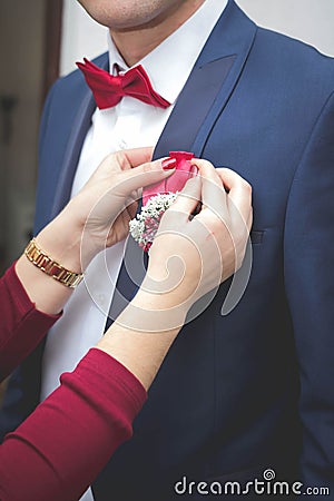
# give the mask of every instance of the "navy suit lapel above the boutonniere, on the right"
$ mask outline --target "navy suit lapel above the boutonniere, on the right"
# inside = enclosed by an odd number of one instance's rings
[[[243,71],[256,26],[229,0],[178,97],[154,157],[191,150],[200,157]]]

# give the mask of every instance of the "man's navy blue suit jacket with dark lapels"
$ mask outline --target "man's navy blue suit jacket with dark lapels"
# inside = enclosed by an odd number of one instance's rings
[[[333,91],[332,59],[228,2],[155,156],[193,150],[252,184],[250,279],[230,314],[220,315],[223,285],[184,327],[134,439],[97,482],[98,500],[171,500],[183,475],[224,482],[266,468],[334,497]],[[69,198],[94,109],[79,71],[50,91],[37,230]],[[36,402],[40,352],[12,383],[2,416],[11,426]]]

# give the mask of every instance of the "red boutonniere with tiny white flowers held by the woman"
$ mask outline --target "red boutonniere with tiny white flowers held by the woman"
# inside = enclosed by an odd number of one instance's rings
[[[170,151],[169,157],[176,159],[175,173],[161,183],[144,188],[141,210],[129,223],[130,235],[145,252],[149,250],[165,212],[187,180],[197,174],[197,167],[190,163],[194,154]]]

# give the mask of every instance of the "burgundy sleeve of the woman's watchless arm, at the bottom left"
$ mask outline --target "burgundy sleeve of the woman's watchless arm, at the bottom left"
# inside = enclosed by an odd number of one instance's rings
[[[126,367],[91,348],[0,446],[1,501],[78,500],[131,436],[146,396]]]

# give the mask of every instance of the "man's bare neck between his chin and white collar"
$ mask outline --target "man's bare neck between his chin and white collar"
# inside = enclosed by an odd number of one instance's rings
[[[140,61],[140,59],[151,52],[186,22],[187,19],[199,9],[204,1],[205,0],[186,1],[181,6],[171,8],[159,18],[136,29],[110,29],[114,43],[126,63],[131,67]]]

